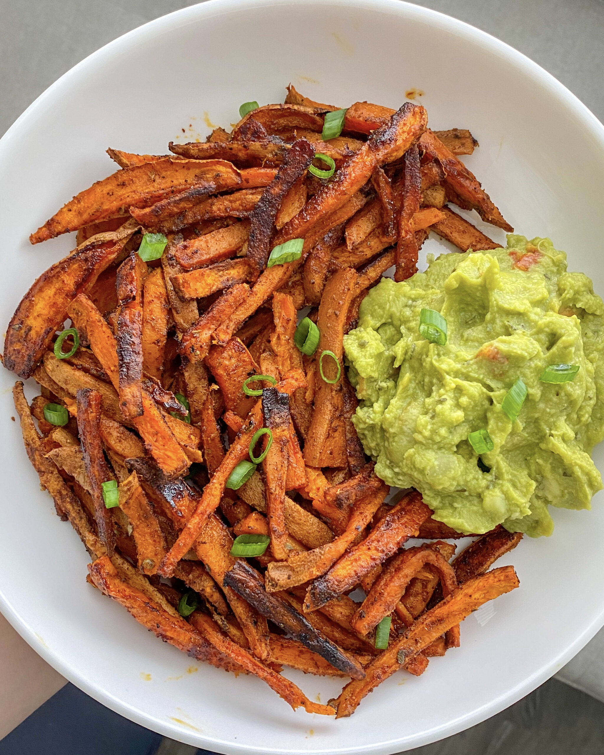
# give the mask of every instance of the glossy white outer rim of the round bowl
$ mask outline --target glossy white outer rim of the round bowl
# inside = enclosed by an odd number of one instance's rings
[[[543,88],[559,102],[561,102],[570,112],[572,112],[578,126],[587,130],[594,142],[599,143],[604,151],[604,125],[593,115],[593,112],[569,91],[561,82],[559,82],[553,75],[548,73],[545,69],[531,60],[525,54],[517,51],[515,48],[507,45],[506,42],[502,42],[500,39],[483,32],[481,29],[476,29],[475,26],[471,26],[469,23],[455,19],[439,11],[433,11],[431,8],[424,8],[420,5],[414,5],[405,0],[294,0],[295,5],[324,5],[331,6],[333,8],[362,8],[371,11],[381,11],[383,13],[397,14],[407,17],[411,20],[419,20],[424,23],[428,23],[431,26],[435,26],[438,29],[443,29],[451,32],[461,39],[466,39],[473,45],[479,46],[489,54],[495,54],[510,66],[516,67],[520,72],[525,74],[527,78],[532,79],[538,87]],[[163,32],[168,32],[173,29],[177,29],[180,26],[186,26],[188,23],[197,22],[204,18],[211,18],[242,9],[254,9],[254,8],[268,8],[273,6],[286,7],[292,5],[292,0],[205,0],[197,5],[190,5],[187,8],[181,8],[180,10],[173,11],[170,14],[156,18],[143,26],[138,26],[136,29],[132,29],[130,32],[119,36],[117,39],[108,42],[103,47],[94,51],[84,60],[81,60],[71,69],[66,71],[63,75],[57,79],[56,82],[51,84],[42,94],[37,97],[31,105],[17,118],[17,120],[8,128],[8,131],[0,138],[0,161],[2,161],[3,153],[7,153],[11,149],[13,140],[17,140],[20,135],[20,126],[23,122],[26,122],[32,116],[42,115],[47,102],[51,102],[55,94],[59,94],[62,91],[69,91],[72,82],[77,82],[79,77],[84,77],[91,68],[99,69],[103,67],[103,63],[106,60],[111,59],[120,51],[128,50],[131,46],[137,45],[140,42],[146,42],[155,38],[157,35]],[[186,732],[182,727],[176,724],[171,724],[165,720],[158,720],[151,715],[141,713],[140,710],[131,707],[125,701],[120,700],[115,695],[111,695],[106,690],[97,686],[94,681],[89,680],[85,676],[79,673],[79,670],[71,667],[67,662],[57,657],[57,654],[52,649],[43,646],[39,642],[39,638],[35,635],[34,630],[26,621],[13,609],[10,602],[0,592],[0,612],[5,616],[9,624],[20,634],[29,646],[32,646],[45,661],[48,662],[55,670],[57,670],[62,676],[69,682],[82,689],[91,698],[94,698],[101,704],[125,716],[129,720],[145,726],[148,729],[158,732],[159,734],[175,738],[178,741],[189,742],[196,747],[206,747],[217,752],[228,753],[249,753],[250,748],[247,745],[241,745],[232,741],[225,741],[223,739],[211,737],[209,735],[193,734],[192,732]],[[391,739],[390,741],[380,741],[372,747],[363,745],[361,747],[345,747],[334,750],[333,748],[325,750],[313,750],[313,755],[344,755],[344,753],[392,753],[396,752],[397,748],[404,747],[408,750],[409,747],[420,747],[423,744],[429,744],[430,742],[439,741],[442,738],[457,734],[465,729],[480,723],[491,716],[495,716],[501,710],[509,707],[525,695],[528,695],[542,683],[544,683],[550,676],[553,676],[565,663],[567,663],[573,656],[575,656],[585,645],[593,638],[596,632],[604,625],[604,605],[601,612],[593,621],[590,622],[584,630],[575,637],[572,642],[564,651],[559,655],[550,658],[550,661],[543,664],[541,668],[535,670],[530,676],[528,676],[519,685],[516,685],[512,689],[507,690],[504,695],[500,695],[498,698],[488,701],[482,707],[467,713],[467,715],[459,716],[455,720],[443,723],[440,726],[435,726],[430,729],[427,735],[412,735],[411,738],[399,737]],[[279,753],[282,750],[278,750],[273,747],[254,746],[254,752],[263,753]],[[292,755],[304,755],[307,750],[288,750]]]

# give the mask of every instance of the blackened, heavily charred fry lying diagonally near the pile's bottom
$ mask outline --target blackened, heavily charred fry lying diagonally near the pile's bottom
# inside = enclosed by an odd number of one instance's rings
[[[288,633],[292,639],[297,639],[309,650],[321,655],[338,670],[353,679],[365,676],[358,661],[319,633],[304,616],[278,596],[267,593],[262,576],[248,562],[239,559],[233,569],[224,575],[224,584],[245,598],[261,615],[270,618],[273,624]]]

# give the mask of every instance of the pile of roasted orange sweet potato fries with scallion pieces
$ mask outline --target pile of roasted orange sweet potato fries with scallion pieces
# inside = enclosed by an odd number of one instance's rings
[[[289,87],[242,112],[168,156],[108,150],[120,169],[30,237],[78,246],[17,307],[3,361],[41,387],[28,405],[15,385],[23,439],[88,581],[189,655],[350,716],[518,586],[488,569],[522,535],[451,561],[442,538],[460,535],[417,492],[384,503],[343,336],[388,268],[415,272],[429,231],[498,246],[448,203],[512,229],[458,158],[470,132],[430,131],[422,106],[344,111]],[[350,681],[322,705],[282,666]]]

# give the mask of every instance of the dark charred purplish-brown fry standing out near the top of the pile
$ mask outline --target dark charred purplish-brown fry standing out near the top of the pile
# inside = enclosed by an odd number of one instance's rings
[[[254,266],[254,278],[257,278],[267,267],[270,239],[277,211],[288,191],[306,173],[314,156],[315,150],[307,140],[295,141],[288,149],[275,178],[270,186],[267,186],[250,216],[248,259]]]

